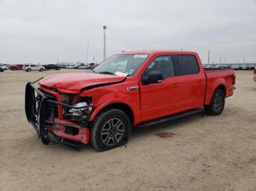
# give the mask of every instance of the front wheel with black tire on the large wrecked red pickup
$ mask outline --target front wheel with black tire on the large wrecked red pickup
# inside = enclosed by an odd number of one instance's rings
[[[98,152],[127,144],[131,122],[120,109],[100,113],[91,125],[91,146]]]

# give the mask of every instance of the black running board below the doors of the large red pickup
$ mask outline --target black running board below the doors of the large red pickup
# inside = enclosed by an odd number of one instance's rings
[[[189,110],[188,112],[182,112],[180,114],[173,114],[173,115],[170,115],[170,116],[167,116],[167,117],[162,117],[162,118],[157,119],[157,120],[152,120],[152,121],[149,121],[149,122],[142,122],[139,125],[137,125],[137,127],[138,128],[145,128],[145,127],[148,127],[148,126],[151,126],[151,125],[156,125],[156,124],[161,123],[161,122],[176,120],[180,117],[185,117],[187,115],[196,114],[196,113],[202,112],[202,111],[203,111],[203,108],[193,109],[193,110]]]

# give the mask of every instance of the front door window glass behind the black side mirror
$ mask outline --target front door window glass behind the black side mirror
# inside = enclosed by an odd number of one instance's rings
[[[143,77],[148,77],[151,71],[160,71],[163,78],[174,77],[175,70],[173,66],[173,59],[170,55],[162,55],[152,61],[143,73]]]

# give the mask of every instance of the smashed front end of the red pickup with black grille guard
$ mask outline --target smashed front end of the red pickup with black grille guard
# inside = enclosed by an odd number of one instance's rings
[[[92,111],[92,105],[75,107],[61,103],[59,93],[43,87],[38,88],[34,83],[29,82],[26,85],[26,117],[37,131],[42,143],[60,143],[72,147],[80,147],[83,144],[88,144],[90,130],[87,128],[87,125],[90,114],[88,113],[86,116],[83,116],[83,122],[74,122],[64,119],[63,111],[64,109],[68,110],[72,108],[86,108]]]

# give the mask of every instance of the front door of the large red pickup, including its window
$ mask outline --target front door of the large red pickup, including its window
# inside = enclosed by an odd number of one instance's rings
[[[148,77],[151,71],[160,71],[163,81],[143,84],[143,77]],[[149,63],[140,79],[140,111],[142,120],[152,120],[176,112],[177,84],[175,68],[171,55],[159,55]]]

